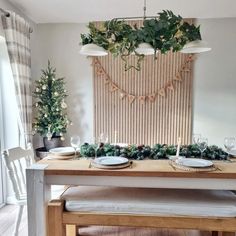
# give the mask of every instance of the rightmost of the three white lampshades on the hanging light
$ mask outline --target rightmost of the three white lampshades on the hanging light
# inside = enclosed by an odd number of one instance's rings
[[[201,53],[210,51],[211,48],[207,45],[206,42],[202,40],[195,40],[185,44],[183,49],[180,51],[182,53]]]

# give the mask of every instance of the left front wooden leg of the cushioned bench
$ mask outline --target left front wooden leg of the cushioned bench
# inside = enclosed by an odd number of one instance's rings
[[[64,202],[54,200],[48,204],[48,236],[66,236],[66,227],[62,222]]]

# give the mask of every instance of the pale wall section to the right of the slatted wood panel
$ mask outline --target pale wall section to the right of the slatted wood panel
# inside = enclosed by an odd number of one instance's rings
[[[193,130],[223,145],[236,136],[236,18],[199,20],[212,51],[195,63]]]

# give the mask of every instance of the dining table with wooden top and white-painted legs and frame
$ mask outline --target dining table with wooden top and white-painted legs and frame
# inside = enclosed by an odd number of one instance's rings
[[[46,236],[51,185],[236,190],[236,161],[215,161],[208,172],[173,168],[168,160],[133,161],[124,169],[97,169],[91,160],[42,160],[26,170],[28,235]]]

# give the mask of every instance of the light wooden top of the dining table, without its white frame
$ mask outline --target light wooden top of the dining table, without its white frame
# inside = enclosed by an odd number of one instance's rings
[[[89,167],[91,160],[41,160],[47,164],[45,175],[84,175],[84,176],[137,176],[137,177],[176,177],[176,178],[222,178],[236,179],[236,161],[215,161],[219,170],[210,172],[193,172],[175,170],[168,160],[133,161],[132,168],[97,169]]]

